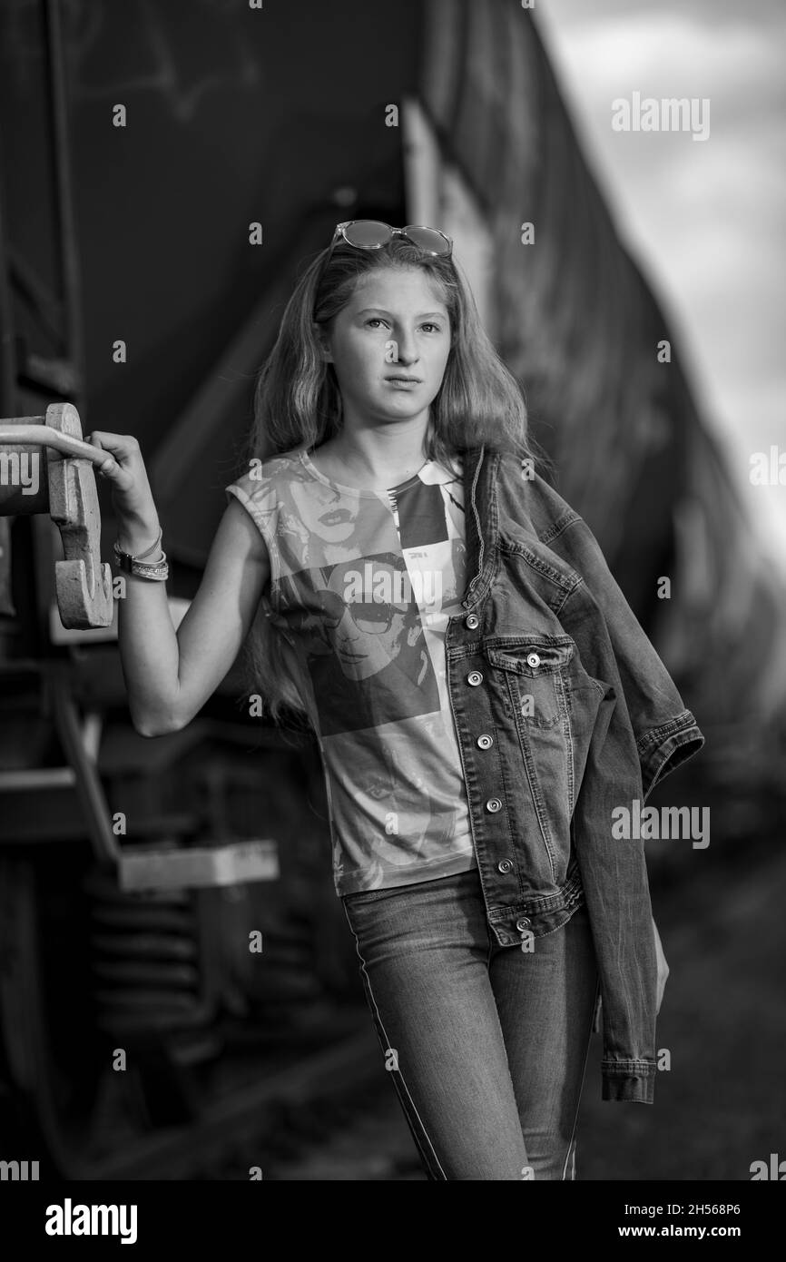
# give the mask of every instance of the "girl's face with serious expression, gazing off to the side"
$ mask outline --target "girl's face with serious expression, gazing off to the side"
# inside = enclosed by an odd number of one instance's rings
[[[324,341],[349,423],[413,420],[442,385],[448,308],[419,268],[381,268],[360,278]]]

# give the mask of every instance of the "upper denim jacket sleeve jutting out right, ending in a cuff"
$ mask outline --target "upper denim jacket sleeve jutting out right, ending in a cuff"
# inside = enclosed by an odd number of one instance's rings
[[[587,522],[569,510],[548,546],[579,574],[606,621],[641,764],[645,800],[704,745],[696,721],[617,584]],[[572,599],[570,597],[569,599]]]

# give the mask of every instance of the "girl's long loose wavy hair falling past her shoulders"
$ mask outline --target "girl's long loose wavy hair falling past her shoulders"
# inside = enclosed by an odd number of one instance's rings
[[[310,451],[341,432],[342,398],[333,365],[320,352],[318,326],[327,332],[347,305],[358,279],[385,268],[424,271],[447,307],[452,345],[444,376],[429,409],[424,461],[453,467],[453,457],[473,447],[536,459],[527,435],[527,410],[519,382],[495,351],[474,298],[452,257],[423,254],[404,237],[380,250],[339,242],[308,264],[289,299],[275,345],[260,369],[247,459],[305,447]],[[537,453],[539,456],[539,453]],[[264,597],[245,646],[245,665],[262,711],[278,724],[307,716],[286,665],[285,645],[270,625]]]

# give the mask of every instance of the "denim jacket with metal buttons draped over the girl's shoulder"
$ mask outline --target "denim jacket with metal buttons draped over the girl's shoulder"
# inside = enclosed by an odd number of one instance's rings
[[[643,842],[612,837],[704,737],[584,520],[508,453],[464,453],[469,583],[445,636],[479,878],[500,945],[582,899],[602,1098],[651,1103],[657,965]]]

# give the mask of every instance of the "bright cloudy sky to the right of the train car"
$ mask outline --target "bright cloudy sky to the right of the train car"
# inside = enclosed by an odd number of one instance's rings
[[[785,0],[535,0],[534,16],[619,235],[662,298],[699,408],[786,558]],[[612,101],[709,101],[690,131],[614,131]],[[686,348],[686,353],[685,350]]]

